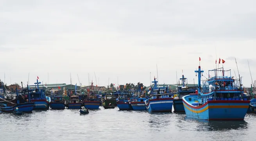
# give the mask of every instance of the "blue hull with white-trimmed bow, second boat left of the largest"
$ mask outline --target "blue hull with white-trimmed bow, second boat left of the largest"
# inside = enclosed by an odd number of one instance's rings
[[[145,104],[148,112],[172,112],[173,98],[148,99]]]

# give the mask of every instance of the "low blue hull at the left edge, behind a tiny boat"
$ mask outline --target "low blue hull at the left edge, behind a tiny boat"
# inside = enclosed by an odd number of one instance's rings
[[[32,112],[32,110],[34,109],[34,106],[35,106],[34,102],[30,102],[30,103],[24,103],[24,104],[17,104],[12,107],[0,107],[0,111],[13,112],[14,109],[16,109],[16,107],[18,107],[20,112]]]

